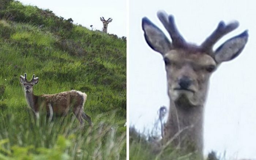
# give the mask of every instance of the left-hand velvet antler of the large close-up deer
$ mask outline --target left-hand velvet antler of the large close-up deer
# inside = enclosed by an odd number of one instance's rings
[[[172,38],[172,44],[174,47],[184,47],[186,42],[181,36],[180,32],[174,23],[174,18],[172,15],[167,15],[164,11],[157,12],[159,20],[162,22],[165,29],[168,31],[169,35]]]

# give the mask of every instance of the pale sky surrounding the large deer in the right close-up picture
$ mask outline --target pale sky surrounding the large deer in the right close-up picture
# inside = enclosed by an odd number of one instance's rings
[[[204,120],[204,152],[256,159],[256,3],[238,0],[129,0],[129,119],[140,131],[152,129],[157,110],[169,106],[162,56],[144,40],[141,21],[147,16],[167,34],[158,10],[174,15],[184,38],[201,44],[219,21],[237,20],[240,26],[214,48],[245,29],[249,40],[236,59],[222,63],[210,79]]]

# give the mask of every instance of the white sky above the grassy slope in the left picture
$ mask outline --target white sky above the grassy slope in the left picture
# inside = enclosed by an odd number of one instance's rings
[[[82,24],[84,27],[102,31],[102,21],[111,17],[108,25],[108,33],[118,37],[126,36],[126,1],[125,0],[19,0],[23,4],[36,5],[39,8],[50,9],[57,16],[65,19],[72,18],[74,24]]]

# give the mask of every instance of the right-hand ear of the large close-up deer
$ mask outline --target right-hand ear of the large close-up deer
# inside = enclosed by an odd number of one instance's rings
[[[215,51],[215,60],[218,63],[222,63],[223,61],[229,61],[236,58],[244,49],[247,40],[247,30],[240,35],[227,40]]]

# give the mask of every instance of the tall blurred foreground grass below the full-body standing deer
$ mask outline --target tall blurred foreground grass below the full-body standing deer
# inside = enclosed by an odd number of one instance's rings
[[[80,128],[75,117],[54,119],[30,117],[19,123],[19,115],[1,121],[0,159],[125,159],[126,134],[118,135],[120,124],[113,125],[114,114],[102,121],[94,118],[93,127]]]

